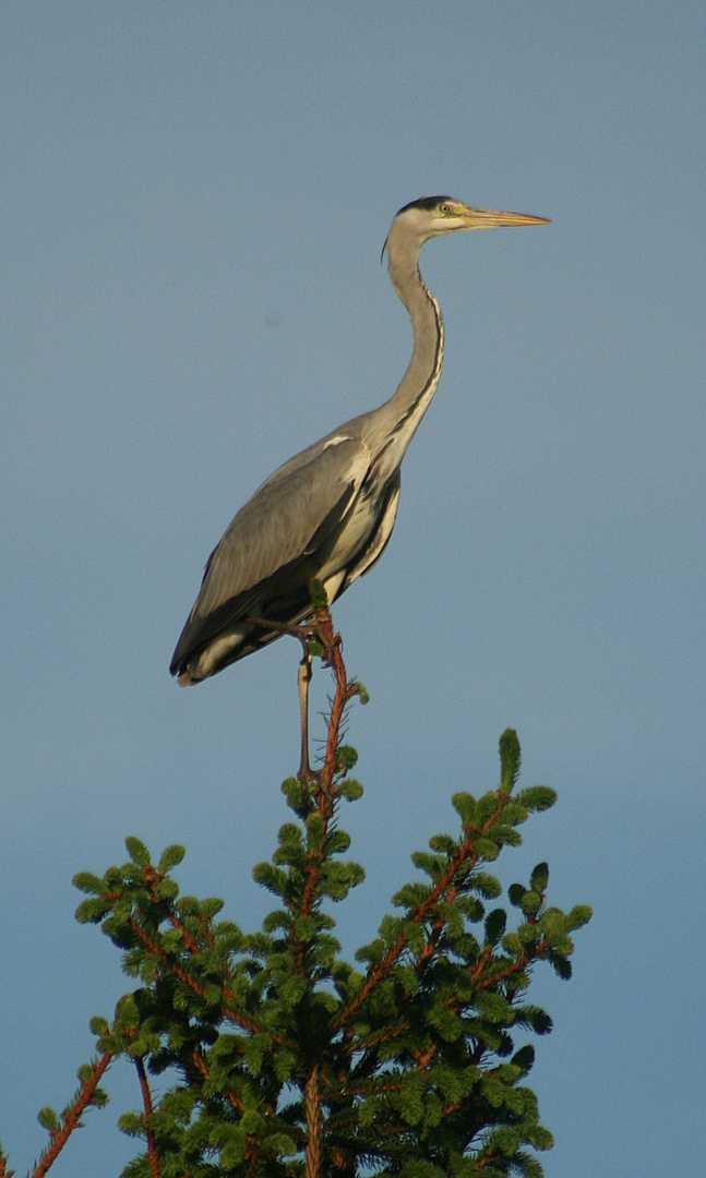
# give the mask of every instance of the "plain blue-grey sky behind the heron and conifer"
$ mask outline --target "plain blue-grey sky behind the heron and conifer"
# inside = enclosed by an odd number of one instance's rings
[[[369,940],[409,852],[559,789],[506,885],[593,905],[532,1080],[548,1178],[701,1172],[706,8],[34,2],[2,41],[0,1137],[21,1173],[128,981],[71,886],[137,834],[187,893],[251,881],[297,765],[298,648],[167,674],[203,565],[282,461],[394,391],[380,250],[428,193],[552,218],[433,241],[447,324],[383,561],[338,604],[368,687],[343,816]],[[323,706],[328,681],[319,674]],[[321,729],[323,732],[323,729]],[[116,1066],[55,1178],[116,1174]]]

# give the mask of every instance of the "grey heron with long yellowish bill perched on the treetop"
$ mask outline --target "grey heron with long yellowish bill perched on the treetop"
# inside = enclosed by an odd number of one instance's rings
[[[332,604],[382,555],[397,514],[402,459],[443,362],[441,309],[417,263],[424,241],[458,230],[546,223],[450,197],[424,197],[400,210],[383,253],[411,319],[408,369],[389,401],[290,458],[240,508],[209,557],[177,643],[170,671],[180,684],[199,683],[306,622],[312,581]]]

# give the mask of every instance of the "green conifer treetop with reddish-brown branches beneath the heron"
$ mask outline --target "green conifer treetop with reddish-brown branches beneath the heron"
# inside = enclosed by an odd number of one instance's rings
[[[143,1143],[123,1178],[541,1176],[536,1153],[552,1136],[524,1081],[529,1039],[552,1021],[527,991],[539,962],[570,977],[572,934],[590,912],[547,904],[546,863],[503,904],[488,866],[555,793],[516,787],[520,746],[503,733],[496,788],[453,796],[454,833],[413,855],[415,879],[345,961],[332,907],[364,873],[339,825],[362,795],[341,726],[364,693],[347,679],[328,610],[317,621],[336,680],[326,753],[304,788],[296,777],[282,787],[292,819],[253,871],[276,898],[262,929],[219,919],[220,900],[180,895],[182,847],[153,863],[130,838],[124,866],[75,876],[87,896],[78,919],[101,925],[134,988],[111,1021],[93,1019],[98,1055],[74,1100],[60,1116],[42,1110],[51,1139],[34,1178],[84,1110],[105,1101],[99,1081],[120,1055],[143,1105],[119,1120]],[[158,1100],[153,1077],[166,1083]]]

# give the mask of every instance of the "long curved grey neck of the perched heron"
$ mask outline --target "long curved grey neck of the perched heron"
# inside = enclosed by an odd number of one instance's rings
[[[443,319],[438,303],[420,274],[420,243],[400,239],[392,230],[388,252],[390,279],[409,311],[414,332],[407,372],[395,393],[382,406],[388,431],[395,435],[396,449],[401,448],[403,454],[438,385],[443,364]]]

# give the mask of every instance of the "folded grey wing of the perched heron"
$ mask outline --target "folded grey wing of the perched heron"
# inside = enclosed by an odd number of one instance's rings
[[[296,597],[316,576],[319,554],[339,534],[370,465],[368,448],[343,435],[310,452],[309,461],[293,469],[288,463],[262,484],[211,554],[172,674],[239,618],[269,614],[290,621],[268,605],[279,596],[286,614],[288,595]]]

